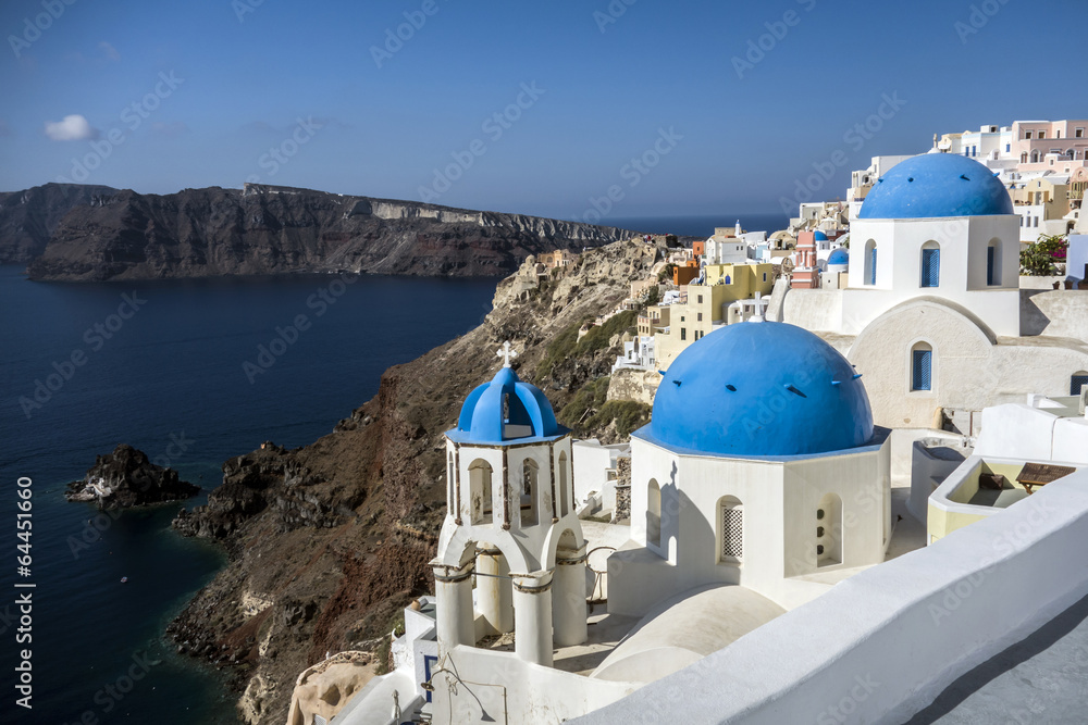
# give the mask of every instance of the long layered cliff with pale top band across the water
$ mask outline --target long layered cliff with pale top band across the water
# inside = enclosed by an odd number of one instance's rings
[[[247,184],[166,196],[120,191],[73,208],[33,279],[322,273],[487,276],[530,254],[633,236],[520,214]]]

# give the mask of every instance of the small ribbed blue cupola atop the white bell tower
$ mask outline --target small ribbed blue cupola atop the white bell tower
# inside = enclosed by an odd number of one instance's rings
[[[503,367],[491,383],[469,393],[456,430],[446,435],[465,443],[504,443],[523,438],[551,438],[568,433],[555,420],[547,397],[522,383],[512,367]]]

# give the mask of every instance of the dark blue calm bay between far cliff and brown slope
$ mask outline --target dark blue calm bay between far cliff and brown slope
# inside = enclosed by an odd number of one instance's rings
[[[62,492],[119,442],[169,459],[206,489],[224,460],[263,440],[309,443],[373,396],[387,366],[479,324],[495,288],[492,279],[333,279],[62,285],[0,266],[0,721],[234,722],[215,671],[162,639],[222,566],[219,550],[170,530],[177,504],[88,523],[96,509]],[[306,329],[288,329],[299,315]],[[273,343],[277,328],[293,341]],[[259,346],[270,349],[262,359]],[[36,380],[55,389],[38,390],[40,407],[21,404]],[[34,482],[28,578],[14,561],[20,476]],[[15,589],[16,580],[36,588]],[[33,592],[29,645],[14,642],[22,591]],[[23,648],[33,653],[29,712],[14,705]]]

